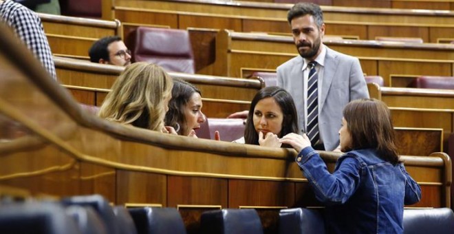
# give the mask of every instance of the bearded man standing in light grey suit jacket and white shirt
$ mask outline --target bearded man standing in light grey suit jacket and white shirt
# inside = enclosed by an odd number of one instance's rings
[[[323,12],[318,5],[296,3],[288,12],[288,22],[300,56],[277,67],[277,85],[290,92],[294,98],[299,114],[300,134],[306,133],[307,84],[311,70],[309,63],[316,62],[318,140],[312,147],[333,151],[339,145],[338,130],[342,125],[345,105],[351,100],[369,98],[363,71],[358,58],[341,54],[323,45],[321,41],[325,34],[325,23]]]

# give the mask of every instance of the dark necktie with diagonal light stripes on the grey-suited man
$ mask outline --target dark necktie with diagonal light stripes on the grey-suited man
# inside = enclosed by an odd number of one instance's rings
[[[307,79],[307,129],[312,146],[318,144],[318,74],[315,70],[316,62],[307,64],[310,67],[309,78]]]

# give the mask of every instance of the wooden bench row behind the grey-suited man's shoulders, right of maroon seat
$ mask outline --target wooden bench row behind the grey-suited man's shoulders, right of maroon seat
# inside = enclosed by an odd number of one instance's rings
[[[454,76],[454,45],[360,40],[324,43],[345,54],[357,56],[363,72],[382,76],[387,86],[407,86],[420,75]],[[218,76],[233,77],[240,77],[241,70],[275,70],[298,55],[290,36],[229,30],[221,30],[217,35],[215,54],[215,63],[210,65],[210,71]]]

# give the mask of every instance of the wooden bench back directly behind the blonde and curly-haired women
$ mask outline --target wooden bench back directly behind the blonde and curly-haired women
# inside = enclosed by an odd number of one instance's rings
[[[124,67],[89,63],[69,58],[54,57],[58,81],[71,91],[80,103],[101,105],[111,85]],[[237,79],[169,72],[173,78],[193,83],[202,92],[204,114],[225,118],[235,111],[249,109],[250,100],[264,86],[255,78]]]

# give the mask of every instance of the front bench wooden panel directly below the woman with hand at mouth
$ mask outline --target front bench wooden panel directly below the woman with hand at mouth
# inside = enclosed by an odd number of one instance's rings
[[[294,189],[293,182],[229,180],[228,206],[236,209],[240,206],[291,207],[295,202]]]

